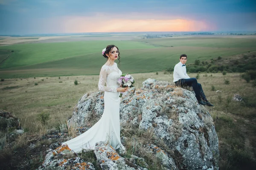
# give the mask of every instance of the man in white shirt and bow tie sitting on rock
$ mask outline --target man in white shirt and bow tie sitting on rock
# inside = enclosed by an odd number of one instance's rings
[[[177,86],[192,86],[195,97],[198,100],[198,103],[201,105],[207,105],[207,106],[214,106],[208,100],[206,99],[206,96],[204,95],[204,91],[202,89],[202,86],[200,83],[197,82],[196,78],[190,78],[186,74],[186,61],[187,56],[186,54],[182,54],[180,56],[180,62],[177,63],[174,67],[173,71],[173,82],[175,82],[175,85]],[[203,100],[202,100],[203,99]]]

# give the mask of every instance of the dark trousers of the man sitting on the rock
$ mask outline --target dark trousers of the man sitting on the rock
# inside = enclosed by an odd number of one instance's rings
[[[175,82],[175,85],[177,86],[192,86],[194,92],[195,92],[195,97],[199,101],[201,98],[204,101],[207,101],[206,96],[204,95],[204,91],[202,88],[202,85],[197,82],[196,78],[190,78],[190,79],[179,79],[177,82]]]

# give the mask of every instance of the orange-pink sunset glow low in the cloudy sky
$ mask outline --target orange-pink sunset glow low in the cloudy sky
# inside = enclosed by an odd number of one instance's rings
[[[210,26],[193,20],[94,20],[82,17],[65,20],[65,32],[207,31]],[[60,23],[61,24],[61,23]]]

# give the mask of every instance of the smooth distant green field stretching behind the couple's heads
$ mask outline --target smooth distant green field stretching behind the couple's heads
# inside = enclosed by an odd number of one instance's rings
[[[187,54],[188,63],[192,63],[195,59],[230,57],[256,50],[254,38],[224,37],[17,44],[0,47],[14,51],[0,65],[1,78],[99,74],[105,63],[101,51],[109,44],[119,47],[119,68],[125,73],[163,71],[179,62],[180,54]]]

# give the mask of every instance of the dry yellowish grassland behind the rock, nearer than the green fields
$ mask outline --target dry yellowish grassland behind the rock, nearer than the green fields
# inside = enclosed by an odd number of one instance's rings
[[[147,78],[172,82],[172,74],[163,72],[133,76],[136,88],[140,88]],[[197,74],[189,76],[196,77]],[[79,85],[74,85],[75,80],[78,80]],[[225,80],[229,80],[229,84]],[[202,73],[199,74],[198,82],[202,84],[209,101],[215,105],[208,109],[218,133],[221,170],[239,170],[253,166],[256,155],[256,96],[252,82],[247,83],[238,73],[228,73],[225,76],[220,73]],[[81,96],[98,91],[97,84],[98,76],[6,79],[0,82],[0,108],[19,117],[27,131],[39,133],[38,128],[34,127],[38,125],[40,113],[50,114],[49,125],[67,120]],[[217,93],[217,90],[221,92]],[[240,94],[244,101],[231,100],[234,94]]]

